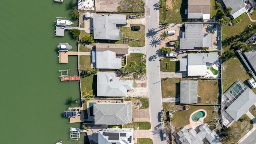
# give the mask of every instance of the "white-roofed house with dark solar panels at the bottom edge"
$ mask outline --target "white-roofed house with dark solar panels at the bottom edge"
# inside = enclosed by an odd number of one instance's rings
[[[98,133],[98,144],[134,144],[133,128],[103,128]]]

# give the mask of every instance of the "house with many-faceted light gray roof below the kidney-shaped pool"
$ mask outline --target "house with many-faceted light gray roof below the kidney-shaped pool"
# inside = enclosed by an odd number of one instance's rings
[[[207,124],[201,124],[195,130],[183,127],[177,134],[181,144],[217,144],[220,141],[220,137],[214,130],[211,131]]]

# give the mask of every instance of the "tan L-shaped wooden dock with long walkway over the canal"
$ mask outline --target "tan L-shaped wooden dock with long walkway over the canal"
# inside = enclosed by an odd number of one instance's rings
[[[91,52],[70,52],[59,50],[59,63],[68,63],[68,56],[90,56]]]

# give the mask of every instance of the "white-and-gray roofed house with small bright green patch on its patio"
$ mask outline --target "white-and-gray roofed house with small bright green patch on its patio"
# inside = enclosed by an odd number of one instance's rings
[[[220,71],[218,53],[189,53],[187,58],[180,59],[180,71],[187,72],[188,77],[217,78]]]

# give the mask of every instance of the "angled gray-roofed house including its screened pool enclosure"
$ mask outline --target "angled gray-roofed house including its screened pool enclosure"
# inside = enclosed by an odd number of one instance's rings
[[[249,111],[256,102],[256,94],[242,81],[237,80],[222,96],[222,122],[229,127]]]

